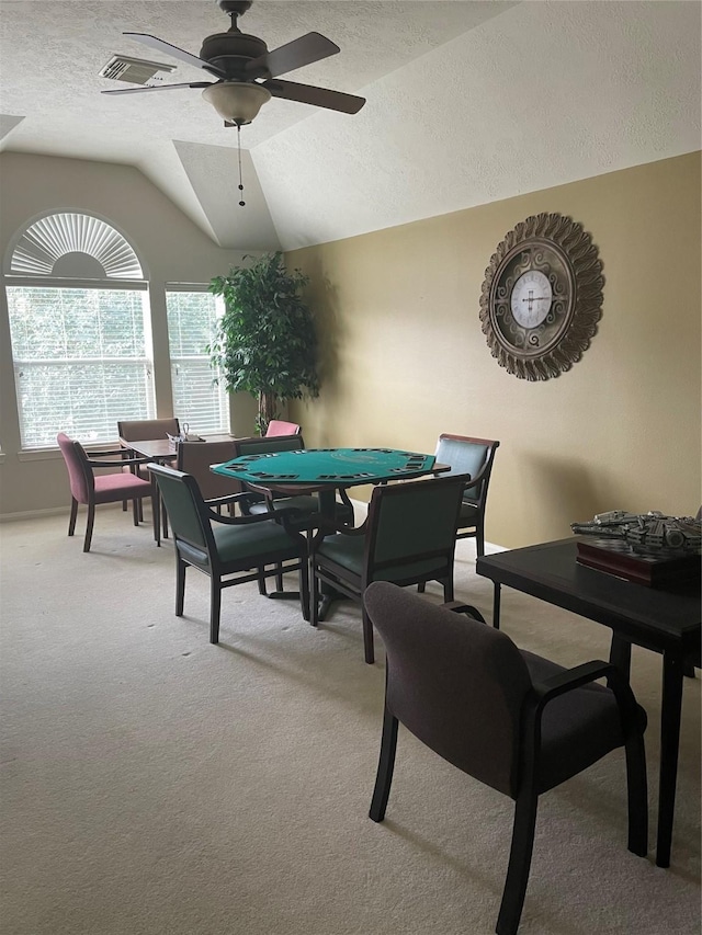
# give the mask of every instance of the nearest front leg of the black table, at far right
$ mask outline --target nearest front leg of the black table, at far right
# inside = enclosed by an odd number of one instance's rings
[[[670,653],[663,657],[663,703],[660,711],[660,785],[658,788],[658,840],[656,865],[670,866],[672,818],[678,779],[680,715],[682,708],[682,660]]]

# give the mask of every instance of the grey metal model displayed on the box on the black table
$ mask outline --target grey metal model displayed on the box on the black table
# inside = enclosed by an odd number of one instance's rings
[[[610,510],[587,523],[571,523],[570,528],[578,535],[624,539],[633,551],[642,555],[702,552],[702,521],[694,516],[666,516],[657,510],[648,513]]]

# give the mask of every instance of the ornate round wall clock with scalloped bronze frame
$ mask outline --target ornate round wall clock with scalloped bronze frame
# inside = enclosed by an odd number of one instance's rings
[[[505,237],[485,271],[483,333],[520,379],[547,380],[580,360],[602,315],[602,263],[581,225],[539,214]]]

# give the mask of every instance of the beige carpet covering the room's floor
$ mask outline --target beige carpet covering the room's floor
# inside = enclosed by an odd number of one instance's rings
[[[203,575],[173,615],[170,544],[103,509],[83,555],[83,522],[73,539],[67,516],[0,527],[3,935],[491,933],[508,799],[405,732],[387,820],[367,818],[384,676],[359,611],[339,604],[315,631],[242,585],[213,647]],[[489,614],[465,543],[456,582]],[[604,628],[514,592],[503,628],[565,664],[607,657]],[[652,845],[660,673],[634,649]],[[626,851],[616,752],[542,798],[520,933],[699,933],[699,763],[698,673],[671,867]]]

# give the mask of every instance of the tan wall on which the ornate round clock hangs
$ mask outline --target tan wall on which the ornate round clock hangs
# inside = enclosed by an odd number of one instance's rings
[[[579,221],[603,263],[588,351],[529,383],[490,356],[478,318],[490,255],[540,212]],[[291,407],[308,445],[433,451],[440,432],[499,438],[487,538],[569,535],[622,508],[697,512],[700,153],[307,248],[322,392]]]

